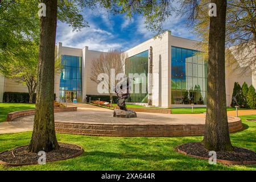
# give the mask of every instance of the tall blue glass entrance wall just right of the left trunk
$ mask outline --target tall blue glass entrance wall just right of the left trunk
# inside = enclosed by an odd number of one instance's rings
[[[60,101],[82,102],[82,57],[61,56]]]

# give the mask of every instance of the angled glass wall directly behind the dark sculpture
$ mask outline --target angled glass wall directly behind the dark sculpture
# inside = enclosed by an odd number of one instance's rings
[[[148,50],[131,56],[125,60],[125,75],[129,76],[129,73],[138,73],[139,75],[144,73],[146,78],[135,78],[133,81],[133,93],[130,94],[130,98],[127,102],[147,103]],[[142,88],[144,85],[146,85],[146,89]],[[139,88],[139,93],[135,93],[136,88]],[[145,91],[144,93],[143,90]]]

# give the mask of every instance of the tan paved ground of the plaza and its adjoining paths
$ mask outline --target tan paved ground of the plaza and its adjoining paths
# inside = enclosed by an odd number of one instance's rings
[[[130,124],[204,124],[205,114],[162,114],[137,113],[137,118],[121,119],[112,117],[113,110],[88,104],[69,104],[77,106],[75,112],[55,113],[55,121],[61,122],[90,122],[90,123],[127,123]],[[240,113],[241,112],[241,113]],[[256,114],[256,110],[241,110],[239,115]],[[228,115],[236,115],[236,111],[228,111]],[[0,134],[31,131],[34,115],[16,118],[11,122],[0,123]]]

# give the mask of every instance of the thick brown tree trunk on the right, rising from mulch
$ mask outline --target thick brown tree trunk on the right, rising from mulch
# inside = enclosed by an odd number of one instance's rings
[[[225,31],[226,1],[212,0],[217,16],[210,17],[207,115],[203,144],[208,150],[232,151],[226,113]]]

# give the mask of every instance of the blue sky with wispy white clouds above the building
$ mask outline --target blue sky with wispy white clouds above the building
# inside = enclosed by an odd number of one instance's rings
[[[85,10],[82,14],[90,27],[76,32],[68,24],[58,22],[56,43],[62,42],[65,47],[75,48],[88,46],[96,51],[125,51],[154,36],[146,29],[142,16],[129,19],[124,15],[110,14],[106,10]],[[170,30],[175,36],[196,39],[185,20],[180,17],[171,16],[164,23],[164,29]]]

